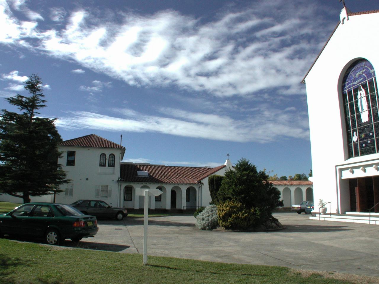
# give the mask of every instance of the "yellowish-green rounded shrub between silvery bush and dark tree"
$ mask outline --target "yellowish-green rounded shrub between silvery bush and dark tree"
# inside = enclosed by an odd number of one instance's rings
[[[254,208],[246,208],[234,200],[219,203],[217,215],[219,225],[225,229],[248,229],[256,223]]]

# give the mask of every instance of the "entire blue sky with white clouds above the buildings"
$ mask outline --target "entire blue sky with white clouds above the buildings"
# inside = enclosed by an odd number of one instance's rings
[[[377,0],[345,0],[352,12]],[[312,169],[302,78],[338,0],[0,0],[0,109],[42,79],[63,140],[97,134],[124,161]]]

